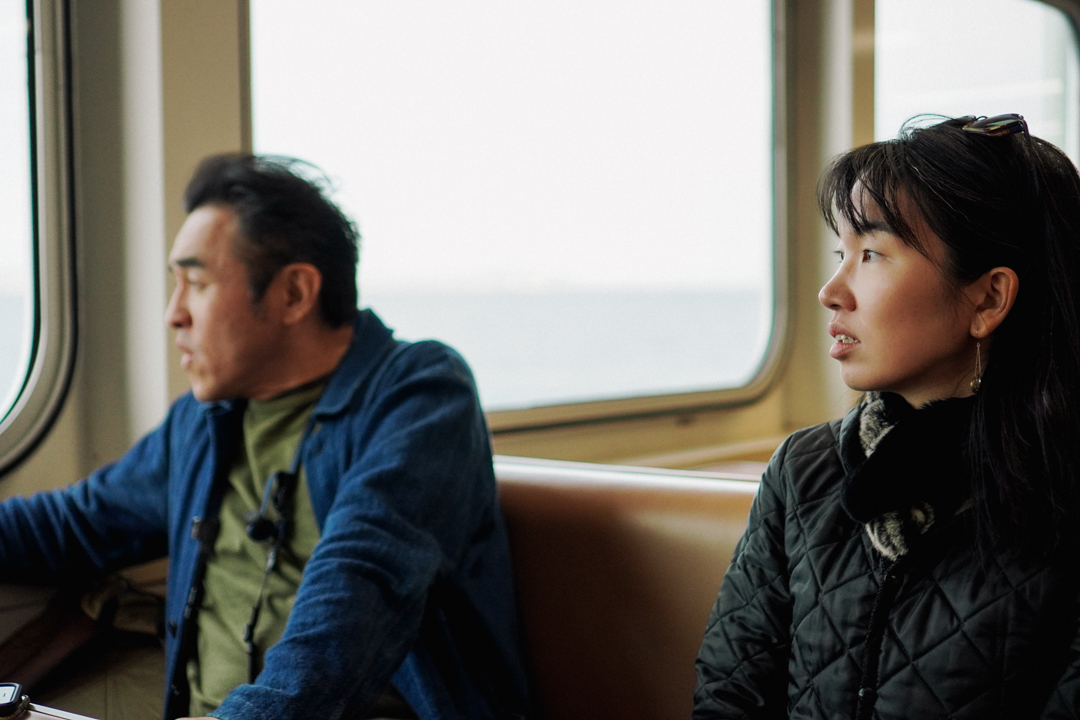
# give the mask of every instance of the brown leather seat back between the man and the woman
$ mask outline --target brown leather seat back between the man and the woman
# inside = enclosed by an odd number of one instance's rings
[[[508,457],[496,475],[549,718],[688,718],[758,478]]]

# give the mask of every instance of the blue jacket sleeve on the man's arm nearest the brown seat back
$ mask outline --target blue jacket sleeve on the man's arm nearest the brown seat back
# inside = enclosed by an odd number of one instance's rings
[[[495,477],[463,361],[419,343],[374,384],[356,417],[306,446],[309,485],[327,453],[346,459],[336,495],[281,640],[215,717],[363,717],[416,644],[436,578],[490,569]]]

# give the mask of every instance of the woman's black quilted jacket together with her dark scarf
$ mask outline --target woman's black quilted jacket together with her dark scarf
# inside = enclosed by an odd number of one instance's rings
[[[947,415],[910,410],[868,458],[858,408],[781,446],[710,616],[693,718],[1080,718],[1080,557],[975,552]],[[907,528],[893,563],[870,516],[933,515],[927,499],[936,521]]]

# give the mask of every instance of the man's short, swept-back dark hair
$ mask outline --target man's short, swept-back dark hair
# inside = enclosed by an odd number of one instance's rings
[[[310,176],[306,177],[306,176]],[[310,262],[323,276],[319,310],[330,327],[356,316],[356,227],[329,200],[329,182],[294,158],[228,153],[202,161],[184,193],[190,213],[228,205],[240,220],[237,256],[247,267],[252,300],[262,299],[278,271]]]

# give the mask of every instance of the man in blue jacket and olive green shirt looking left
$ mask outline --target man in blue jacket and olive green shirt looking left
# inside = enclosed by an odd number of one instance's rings
[[[0,505],[0,568],[167,553],[166,718],[518,716],[472,377],[356,310],[355,230],[297,167],[199,167],[166,312],[192,392],[116,464]]]

